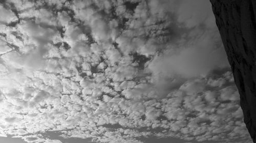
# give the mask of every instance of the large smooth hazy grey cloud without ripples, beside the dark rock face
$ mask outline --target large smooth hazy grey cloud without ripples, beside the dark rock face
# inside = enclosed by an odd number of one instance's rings
[[[212,35],[211,32],[200,32],[199,37],[190,39],[191,41],[179,46],[177,50],[176,47],[167,49],[163,54],[156,56],[148,65],[149,69],[154,74],[177,74],[191,78],[205,76],[214,69],[229,67],[223,46],[216,45],[219,34],[215,31],[215,35]]]

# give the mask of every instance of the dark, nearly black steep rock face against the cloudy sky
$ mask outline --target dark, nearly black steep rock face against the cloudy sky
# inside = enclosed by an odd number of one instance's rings
[[[240,93],[244,122],[256,142],[256,1],[210,2]]]

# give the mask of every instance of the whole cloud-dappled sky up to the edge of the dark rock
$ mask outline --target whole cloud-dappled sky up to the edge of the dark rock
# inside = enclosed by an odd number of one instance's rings
[[[252,142],[206,0],[0,1],[0,115],[0,142]]]

